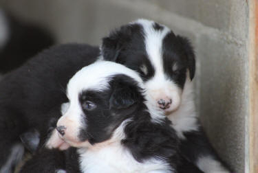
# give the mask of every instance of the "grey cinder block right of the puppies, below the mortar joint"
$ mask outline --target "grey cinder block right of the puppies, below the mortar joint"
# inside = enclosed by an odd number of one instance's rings
[[[244,173],[248,65],[243,47],[200,36],[200,116],[211,142],[227,163]]]

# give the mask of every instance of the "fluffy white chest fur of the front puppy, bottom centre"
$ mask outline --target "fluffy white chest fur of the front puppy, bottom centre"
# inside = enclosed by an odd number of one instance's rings
[[[79,149],[80,170],[89,173],[169,173],[169,165],[160,159],[139,163],[120,143],[101,148]]]

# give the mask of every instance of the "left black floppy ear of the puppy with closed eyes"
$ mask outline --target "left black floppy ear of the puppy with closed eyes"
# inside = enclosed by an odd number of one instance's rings
[[[109,36],[104,37],[100,50],[104,59],[116,62],[123,44],[131,39],[130,36],[131,27],[130,25],[125,25],[111,32]]]

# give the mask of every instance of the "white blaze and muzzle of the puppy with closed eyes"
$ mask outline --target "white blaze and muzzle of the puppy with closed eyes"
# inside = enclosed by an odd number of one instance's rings
[[[149,102],[158,106],[157,100],[171,99],[172,104],[166,111],[174,111],[180,105],[182,89],[169,76],[166,76],[162,52],[163,40],[167,34],[171,33],[171,30],[164,25],[162,25],[162,29],[155,30],[153,27],[155,22],[146,19],[139,19],[134,23],[141,25],[143,28],[147,57],[155,70],[153,78],[144,83],[147,88],[147,95],[151,96]],[[177,65],[174,67],[171,65],[171,71],[172,69],[177,69]]]

